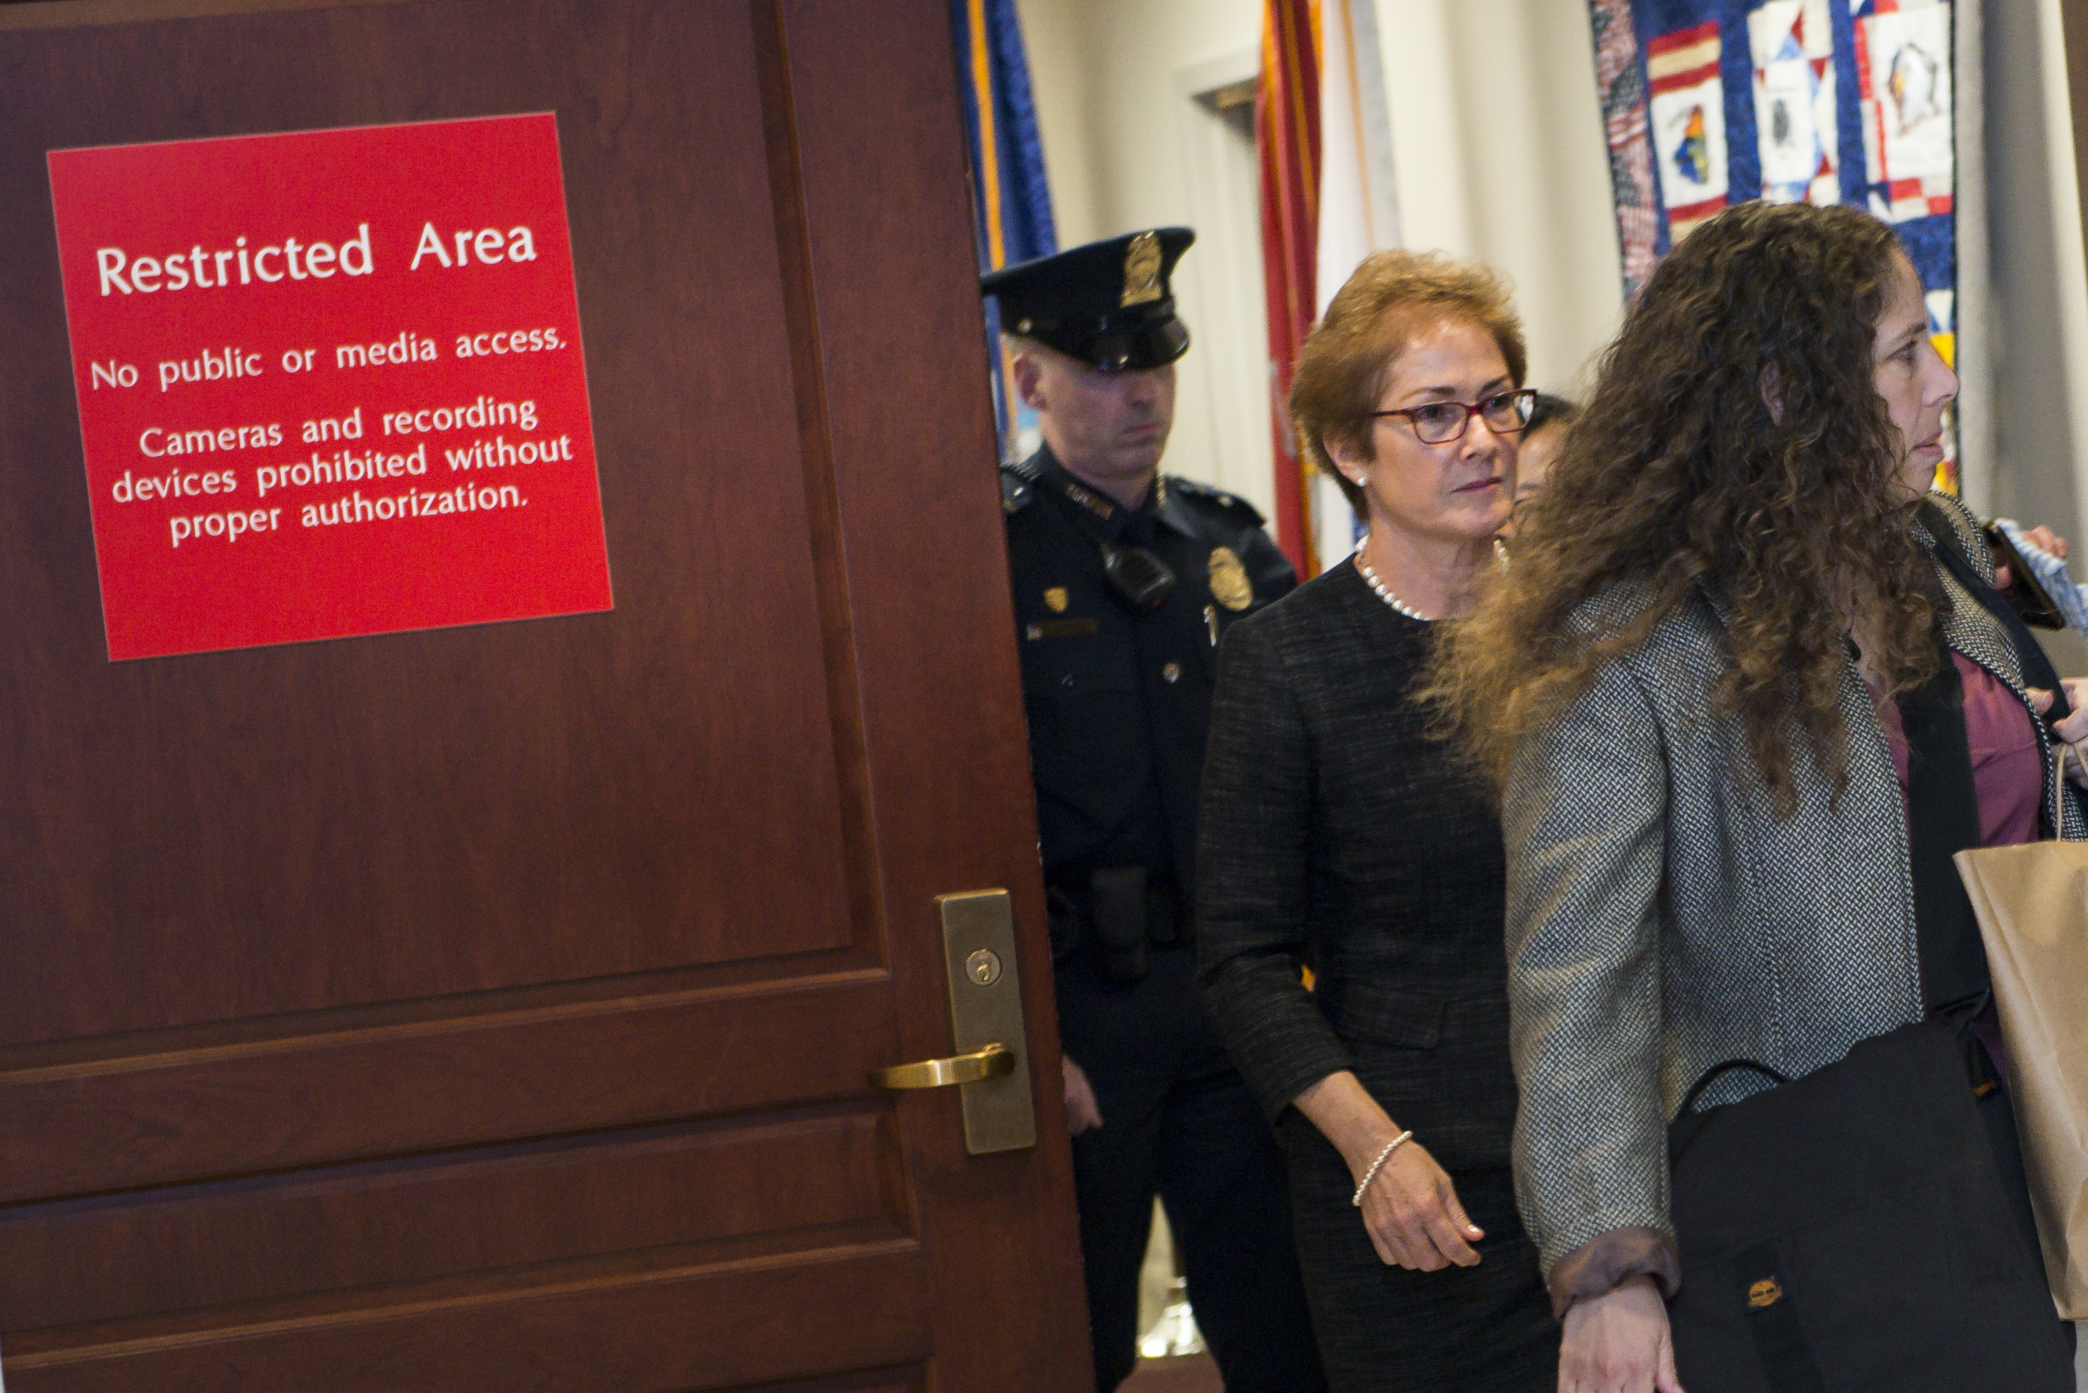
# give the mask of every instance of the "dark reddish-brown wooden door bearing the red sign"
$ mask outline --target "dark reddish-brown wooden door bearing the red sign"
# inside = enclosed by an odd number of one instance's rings
[[[109,662],[46,150],[522,111],[614,612]],[[10,1393],[1088,1378],[960,140],[942,0],[0,8]]]

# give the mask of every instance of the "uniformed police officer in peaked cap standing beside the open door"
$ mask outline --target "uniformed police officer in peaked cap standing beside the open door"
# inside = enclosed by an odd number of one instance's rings
[[[1324,1389],[1282,1155],[1205,1021],[1190,888],[1217,645],[1297,585],[1261,516],[1159,472],[1188,328],[1157,228],[983,278],[1044,447],[1002,468],[1096,1389],[1136,1362],[1159,1193],[1232,1393]]]

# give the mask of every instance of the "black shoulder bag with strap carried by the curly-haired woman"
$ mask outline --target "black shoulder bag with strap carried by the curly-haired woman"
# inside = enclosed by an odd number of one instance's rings
[[[1938,530],[1944,564],[1990,606],[1992,587],[1952,541]],[[2036,641],[2021,660],[2038,683],[2032,652],[2042,662]],[[1902,702],[1911,850],[1917,863],[1940,858],[1915,867],[1923,994],[1936,1013],[1800,1080],[1754,1061],[1718,1065],[1668,1130],[1683,1270],[1668,1318],[1689,1393],[2073,1389],[2071,1339],[1979,1113],[1998,1088],[1967,1030],[1984,1002],[1938,1009],[1967,975],[1929,961],[1946,957],[1936,952],[1954,934],[1946,900],[1952,890],[1963,898],[1963,886],[1921,871],[1950,871],[1965,819],[1977,840],[1963,716],[1948,718],[1956,691],[1950,668]],[[1775,1088],[1695,1111],[1735,1069]]]

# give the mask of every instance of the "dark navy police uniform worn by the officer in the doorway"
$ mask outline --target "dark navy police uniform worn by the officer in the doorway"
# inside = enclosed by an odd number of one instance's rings
[[[1324,1387],[1282,1155],[1196,998],[1188,888],[1226,629],[1297,585],[1259,514],[1161,476],[1130,510],[1050,451],[1002,470],[1059,1034],[1102,1126],[1073,1138],[1096,1387],[1132,1372],[1153,1197],[1234,1393]],[[1109,547],[1176,576],[1136,612]]]

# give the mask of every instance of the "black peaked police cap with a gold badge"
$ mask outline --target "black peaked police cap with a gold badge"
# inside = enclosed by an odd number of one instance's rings
[[[1102,372],[1165,368],[1188,353],[1167,278],[1196,234],[1148,228],[979,278],[1000,297],[1000,328]]]

